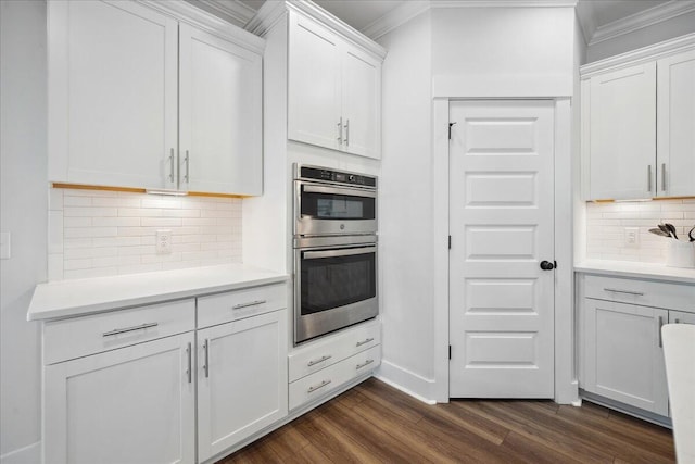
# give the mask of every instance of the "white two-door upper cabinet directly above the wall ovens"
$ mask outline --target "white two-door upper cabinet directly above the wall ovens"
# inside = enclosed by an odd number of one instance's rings
[[[382,58],[292,11],[288,60],[288,137],[381,158]]]

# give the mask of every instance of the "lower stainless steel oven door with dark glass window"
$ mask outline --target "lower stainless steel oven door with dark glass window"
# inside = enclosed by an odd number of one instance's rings
[[[294,343],[375,317],[377,246],[295,250]]]

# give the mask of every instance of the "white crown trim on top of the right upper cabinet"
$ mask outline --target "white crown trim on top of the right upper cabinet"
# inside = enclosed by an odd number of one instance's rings
[[[617,54],[605,60],[584,64],[579,68],[579,73],[582,79],[586,79],[595,74],[601,74],[606,71],[619,70],[621,67],[658,60],[660,58],[694,48],[695,33],[632,50],[627,53]]]

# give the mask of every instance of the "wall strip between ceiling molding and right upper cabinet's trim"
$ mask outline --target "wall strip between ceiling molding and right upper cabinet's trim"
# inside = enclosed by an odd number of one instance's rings
[[[586,50],[586,62],[603,60],[691,33],[695,33],[695,12],[591,45]]]

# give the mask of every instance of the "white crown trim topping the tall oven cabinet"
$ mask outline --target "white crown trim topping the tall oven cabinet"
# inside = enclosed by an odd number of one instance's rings
[[[311,0],[286,0],[278,3],[265,2],[258,9],[256,15],[247,24],[245,29],[263,37],[289,11],[298,12],[303,16],[317,21],[379,60],[383,60],[387,55],[387,49]]]

